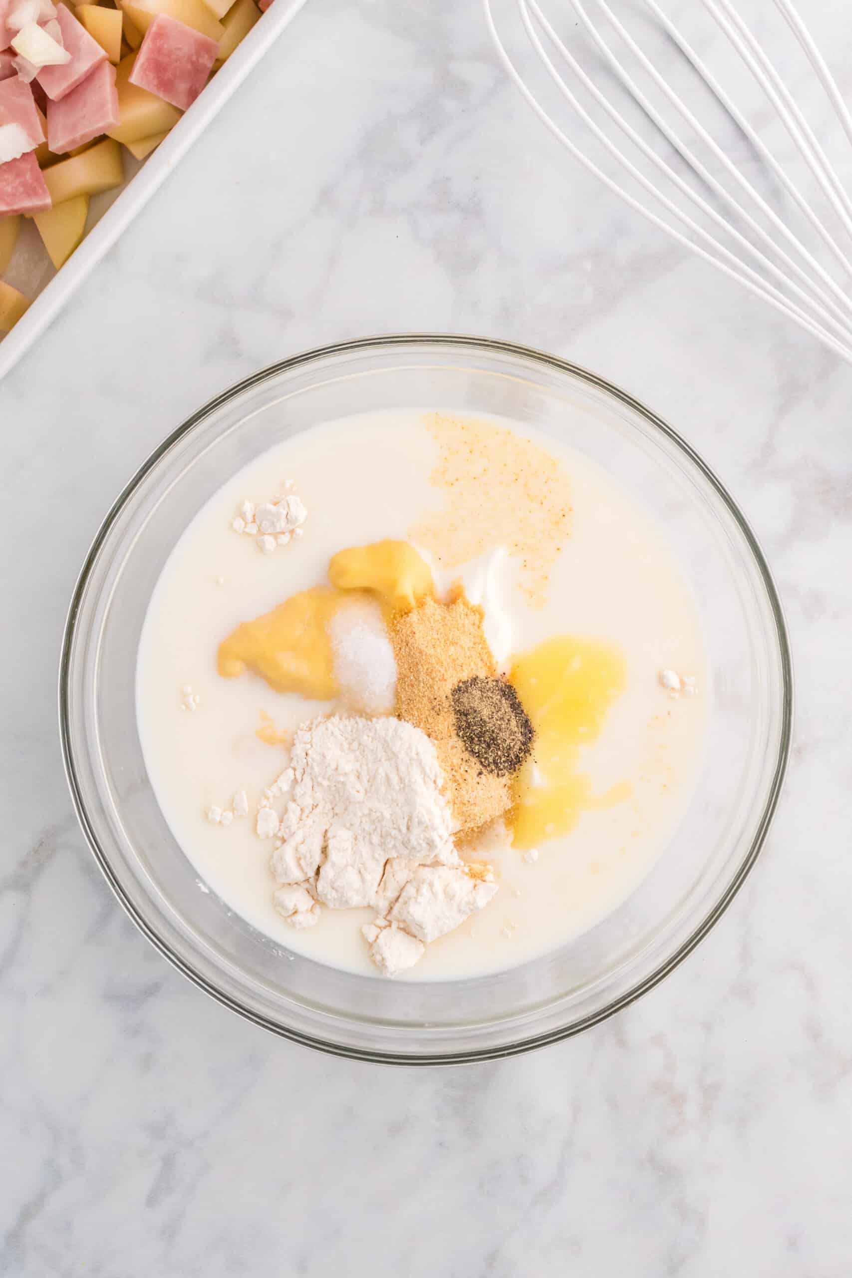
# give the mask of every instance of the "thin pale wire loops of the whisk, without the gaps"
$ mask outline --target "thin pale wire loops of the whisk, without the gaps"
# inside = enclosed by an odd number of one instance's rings
[[[778,161],[747,114],[724,89],[710,72],[705,59],[697,55],[682,31],[664,13],[658,0],[644,0],[645,9],[657,23],[657,28],[664,32],[680,51],[685,64],[709,89],[711,100],[740,130],[754,156],[763,165],[764,174],[770,181],[774,180],[778,184],[780,192],[791,201],[793,211],[801,215],[802,221],[814,233],[821,248],[830,253],[834,262],[842,268],[844,275],[842,282],[826,270],[786,217],[764,198],[754,180],[750,180],[737,166],[726,152],[726,147],[719,144],[713,133],[705,128],[696,111],[683,101],[682,95],[673,88],[659,64],[655,64],[653,58],[645,52],[607,0],[567,0],[567,3],[598,61],[613,77],[613,83],[620,86],[628,100],[639,107],[641,120],[646,127],[653,127],[657,139],[664,139],[668,158],[658,153],[643,135],[640,128],[636,128],[627,119],[625,111],[614,105],[611,93],[602,91],[595,83],[581,59],[561,38],[540,0],[513,0],[513,3],[528,41],[526,52],[531,49],[538,64],[547,73],[547,82],[556,87],[559,98],[568,105],[609,160],[614,161],[622,178],[613,178],[588,153],[585,146],[580,146],[574,135],[568,135],[566,128],[557,123],[554,109],[549,104],[545,105],[540,84],[536,83],[533,87],[533,77],[529,73],[521,74],[516,60],[510,55],[494,19],[494,0],[483,0],[485,23],[503,68],[561,146],[589,173],[600,179],[609,190],[664,230],[677,243],[696,253],[729,279],[737,280],[752,295],[768,302],[852,363],[852,296],[849,296],[848,290],[852,262],[842,244],[838,243],[837,236],[825,225],[824,217],[816,211],[812,201],[802,190],[801,181],[791,176],[787,167]],[[594,14],[590,12],[589,3],[594,6]],[[792,0],[773,0],[773,4],[792,32],[796,45],[805,54],[806,61],[815,72],[819,84],[841,121],[847,142],[852,142],[852,115],[846,107],[837,83],[810,32],[793,8]],[[775,119],[780,121],[783,130],[792,141],[796,153],[803,161],[841,230],[852,240],[852,201],[825,148],[760,41],[740,13],[732,8],[731,0],[700,0],[700,5],[754,78],[760,95],[770,105]],[[602,26],[605,27],[609,38],[604,38]],[[620,45],[618,52],[613,40]],[[632,60],[636,70],[628,68],[627,60]],[[643,88],[636,72],[650,82],[650,87],[657,93],[657,101],[651,93]],[[586,109],[577,96],[577,88],[581,88],[597,109],[603,112],[605,124],[618,130],[625,139],[621,146],[613,142],[607,127],[602,127]],[[658,105],[660,101],[664,110]],[[680,125],[669,123],[667,112],[674,112]],[[692,134],[690,141],[682,134],[683,129]],[[571,133],[574,134],[574,130]],[[715,165],[715,173],[701,160],[696,151],[696,143],[709,152]],[[636,161],[623,150],[625,144],[635,148]],[[686,180],[682,175],[683,171],[678,171],[680,165],[685,166],[686,175],[692,180]],[[731,190],[717,174],[724,174],[734,190]],[[630,185],[623,184],[625,178]],[[695,188],[695,180],[697,180],[700,189]],[[641,194],[635,193],[636,188]],[[680,202],[667,192],[677,194]],[[709,193],[710,198],[706,198],[701,192]],[[683,207],[685,203],[692,208],[696,216],[687,212]],[[696,220],[696,217],[703,221]],[[706,224],[715,234],[708,230]]]

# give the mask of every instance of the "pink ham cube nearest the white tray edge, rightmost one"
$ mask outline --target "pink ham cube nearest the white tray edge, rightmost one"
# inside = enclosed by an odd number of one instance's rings
[[[207,83],[217,52],[215,40],[161,13],[148,27],[128,78],[185,111]]]

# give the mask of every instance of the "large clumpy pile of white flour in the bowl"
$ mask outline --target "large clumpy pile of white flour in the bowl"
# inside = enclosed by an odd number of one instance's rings
[[[377,918],[363,932],[377,966],[393,976],[415,964],[497,892],[456,852],[442,782],[432,741],[401,720],[303,723],[257,820],[262,838],[277,840],[277,910],[304,928],[323,905],[372,906]],[[281,815],[272,808],[280,795]]]

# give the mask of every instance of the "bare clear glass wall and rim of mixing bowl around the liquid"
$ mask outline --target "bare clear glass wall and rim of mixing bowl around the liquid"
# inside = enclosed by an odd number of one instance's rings
[[[520,419],[604,465],[677,547],[700,601],[713,682],[697,789],[632,896],[543,957],[439,983],[359,976],[290,953],[201,891],[151,790],[134,705],[151,592],[211,493],[281,438],[347,414],[411,406]],[[692,449],[582,368],[452,336],[368,339],[296,355],[193,414],[146,461],[98,532],[74,590],[60,671],[77,813],[142,932],[208,994],[276,1034],[340,1056],[414,1065],[553,1043],[672,971],[754,865],[782,785],[791,708],[788,642],[769,569]]]

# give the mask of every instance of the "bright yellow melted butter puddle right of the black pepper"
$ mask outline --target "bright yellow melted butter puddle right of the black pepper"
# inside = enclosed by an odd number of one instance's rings
[[[535,728],[533,754],[515,780],[512,843],[535,847],[567,835],[593,808],[623,803],[628,782],[593,794],[581,748],[600,735],[627,682],[618,648],[576,635],[545,639],[517,657],[510,680]]]

